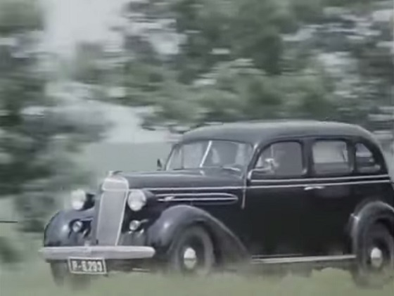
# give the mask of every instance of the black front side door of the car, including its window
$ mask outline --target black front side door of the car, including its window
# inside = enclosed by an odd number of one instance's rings
[[[248,174],[245,215],[253,255],[295,255],[303,250],[303,141],[286,139],[262,147]]]

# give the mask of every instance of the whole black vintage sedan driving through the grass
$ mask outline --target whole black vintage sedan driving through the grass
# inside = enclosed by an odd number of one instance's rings
[[[112,172],[95,193],[73,192],[40,252],[57,283],[116,270],[304,264],[383,285],[394,271],[388,165],[369,131],[351,124],[201,127],[157,172]]]

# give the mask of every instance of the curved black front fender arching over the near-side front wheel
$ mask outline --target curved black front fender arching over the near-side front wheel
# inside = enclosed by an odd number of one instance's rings
[[[196,224],[208,231],[220,258],[225,257],[228,262],[248,257],[246,247],[227,226],[208,212],[189,205],[175,205],[160,214],[147,229],[147,243],[155,248],[158,256],[165,257],[178,234]]]

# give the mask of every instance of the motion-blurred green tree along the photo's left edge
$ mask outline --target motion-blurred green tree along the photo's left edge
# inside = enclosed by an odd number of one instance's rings
[[[71,157],[102,130],[49,93],[56,75],[41,50],[42,23],[38,1],[0,0],[0,198],[13,199],[27,232],[43,231],[59,193],[84,182]],[[8,249],[1,240],[0,253]]]

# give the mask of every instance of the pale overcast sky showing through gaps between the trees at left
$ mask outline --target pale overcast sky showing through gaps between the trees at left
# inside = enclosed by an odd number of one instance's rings
[[[122,3],[127,0],[42,0],[46,14],[46,45],[49,50],[68,55],[77,41],[106,41],[108,27],[114,25]],[[139,118],[129,108],[97,103],[115,127],[106,142],[151,142],[165,139],[165,133],[144,131]]]

